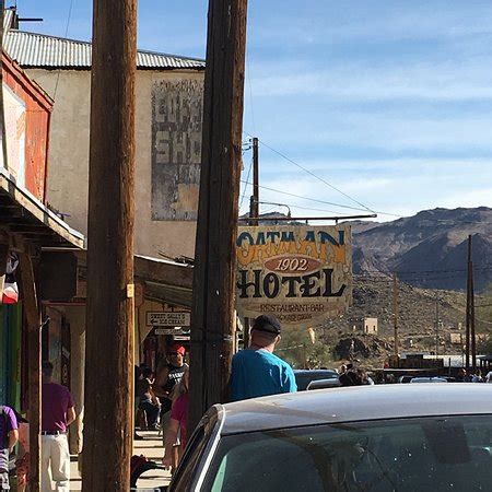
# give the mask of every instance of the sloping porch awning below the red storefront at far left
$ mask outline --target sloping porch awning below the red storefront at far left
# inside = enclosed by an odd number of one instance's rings
[[[71,229],[0,167],[0,225],[43,247],[84,248],[85,237]]]

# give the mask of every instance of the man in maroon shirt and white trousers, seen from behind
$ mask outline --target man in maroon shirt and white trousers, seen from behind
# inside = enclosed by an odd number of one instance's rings
[[[43,362],[42,389],[42,490],[70,490],[70,452],[67,429],[75,420],[70,391],[52,382],[54,366]]]

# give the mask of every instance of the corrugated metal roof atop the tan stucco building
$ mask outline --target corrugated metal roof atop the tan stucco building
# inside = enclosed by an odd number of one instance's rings
[[[91,43],[46,34],[8,30],[3,49],[24,68],[79,69],[91,68]],[[204,60],[152,51],[137,54],[137,68],[143,70],[202,70]]]

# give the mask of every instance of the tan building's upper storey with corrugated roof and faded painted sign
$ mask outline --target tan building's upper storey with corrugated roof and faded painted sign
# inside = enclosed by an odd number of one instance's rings
[[[47,201],[86,233],[91,44],[20,31],[4,49],[54,99]],[[138,51],[136,253],[192,257],[198,209],[204,61]]]

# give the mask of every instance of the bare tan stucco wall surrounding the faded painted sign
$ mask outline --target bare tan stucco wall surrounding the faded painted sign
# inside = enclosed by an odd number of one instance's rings
[[[55,99],[49,140],[47,201],[60,212],[70,214],[67,222],[71,226],[86,233],[91,73],[37,69],[27,70],[27,73]],[[154,134],[156,127],[153,101],[155,87],[166,86],[169,82],[185,82],[185,86],[192,87],[199,86],[200,84],[197,85],[196,82],[202,80],[203,72],[195,71],[140,70],[137,73],[136,253],[138,254],[157,257],[159,251],[162,251],[169,256],[194,256],[196,222],[190,220],[195,219],[192,215],[186,215],[187,221],[153,220],[153,216],[159,219],[166,216],[161,213],[162,201],[160,204],[155,197],[160,196],[161,187],[169,185],[159,181],[168,179],[169,173],[156,173],[155,152],[152,155],[153,145],[154,148],[163,145]],[[160,130],[162,131],[162,128]],[[184,161],[186,156],[179,155],[177,162],[186,164]],[[196,156],[190,156],[191,165],[181,167],[181,171],[192,169],[195,161]],[[178,168],[179,166],[176,167]],[[180,187],[177,189],[183,190]],[[183,190],[185,199],[188,196],[186,191]],[[155,211],[160,207],[161,212],[156,214]]]

